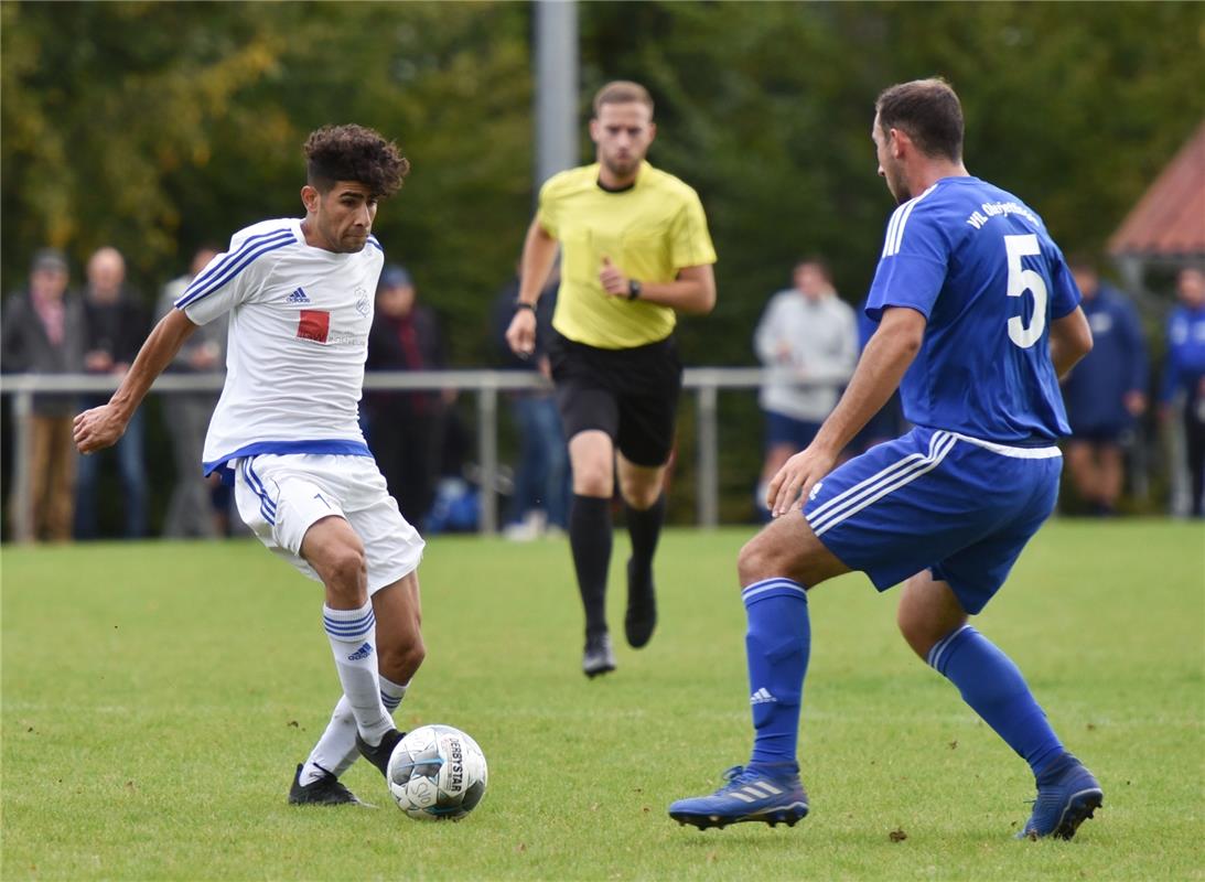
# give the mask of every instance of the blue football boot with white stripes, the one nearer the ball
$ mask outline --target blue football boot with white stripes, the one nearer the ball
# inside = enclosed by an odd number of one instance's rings
[[[787,827],[807,815],[807,792],[794,765],[782,772],[733,766],[724,772],[725,783],[710,796],[680,799],[670,806],[670,817],[680,824],[694,824],[700,830],[727,827],[743,821],[760,821],[770,827]]]

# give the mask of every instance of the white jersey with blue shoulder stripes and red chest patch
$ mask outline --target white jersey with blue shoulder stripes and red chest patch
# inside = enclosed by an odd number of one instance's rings
[[[240,230],[176,301],[196,324],[230,314],[227,378],[205,474],[260,453],[370,455],[359,427],[364,359],[384,255],[306,245],[299,219]]]

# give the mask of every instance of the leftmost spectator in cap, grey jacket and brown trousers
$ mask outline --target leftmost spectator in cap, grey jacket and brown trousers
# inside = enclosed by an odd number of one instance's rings
[[[83,314],[67,293],[70,274],[63,252],[34,255],[29,289],[5,306],[0,369],[5,374],[77,374],[83,369]],[[35,395],[27,435],[27,459],[17,463],[29,481],[25,533],[18,540],[71,539],[76,454],[71,440],[74,395]],[[14,523],[22,523],[12,498]]]

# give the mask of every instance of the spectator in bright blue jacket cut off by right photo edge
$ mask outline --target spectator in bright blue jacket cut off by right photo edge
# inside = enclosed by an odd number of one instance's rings
[[[1176,278],[1177,306],[1168,319],[1168,361],[1163,370],[1159,417],[1170,422],[1182,400],[1185,452],[1189,477],[1189,513],[1205,514],[1205,271],[1188,267]]]

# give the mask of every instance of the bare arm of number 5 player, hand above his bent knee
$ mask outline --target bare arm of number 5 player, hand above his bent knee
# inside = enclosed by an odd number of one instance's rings
[[[883,310],[878,330],[870,337],[858,367],[836,408],[805,451],[787,460],[770,482],[765,504],[778,517],[801,506],[817,481],[833,470],[851,439],[887,404],[924,340],[927,321],[916,310]]]

